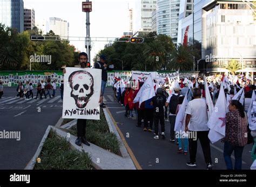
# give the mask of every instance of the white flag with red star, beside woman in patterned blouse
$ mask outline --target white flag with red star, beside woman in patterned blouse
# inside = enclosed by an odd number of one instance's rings
[[[212,143],[217,142],[221,138],[225,137],[225,125],[226,125],[226,97],[223,85],[220,86],[219,97],[215,104],[210,119],[208,120],[207,126],[210,128],[208,138]]]

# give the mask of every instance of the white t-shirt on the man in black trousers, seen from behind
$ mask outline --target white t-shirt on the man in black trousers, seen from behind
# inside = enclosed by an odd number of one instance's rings
[[[191,114],[190,131],[208,131],[207,105],[205,99],[193,99],[187,104],[186,114]]]

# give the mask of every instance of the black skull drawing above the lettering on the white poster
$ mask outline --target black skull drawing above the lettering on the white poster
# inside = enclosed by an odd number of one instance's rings
[[[69,76],[71,97],[75,99],[79,109],[83,109],[93,95],[93,77],[87,71],[74,71]]]

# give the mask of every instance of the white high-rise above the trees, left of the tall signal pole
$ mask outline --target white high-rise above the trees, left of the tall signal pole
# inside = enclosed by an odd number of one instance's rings
[[[59,35],[62,39],[69,39],[68,21],[62,20],[60,18],[51,17],[50,30],[52,30],[56,35]]]

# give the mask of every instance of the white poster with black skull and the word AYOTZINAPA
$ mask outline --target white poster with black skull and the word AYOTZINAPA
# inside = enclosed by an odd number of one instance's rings
[[[99,120],[102,70],[66,68],[62,118]]]

